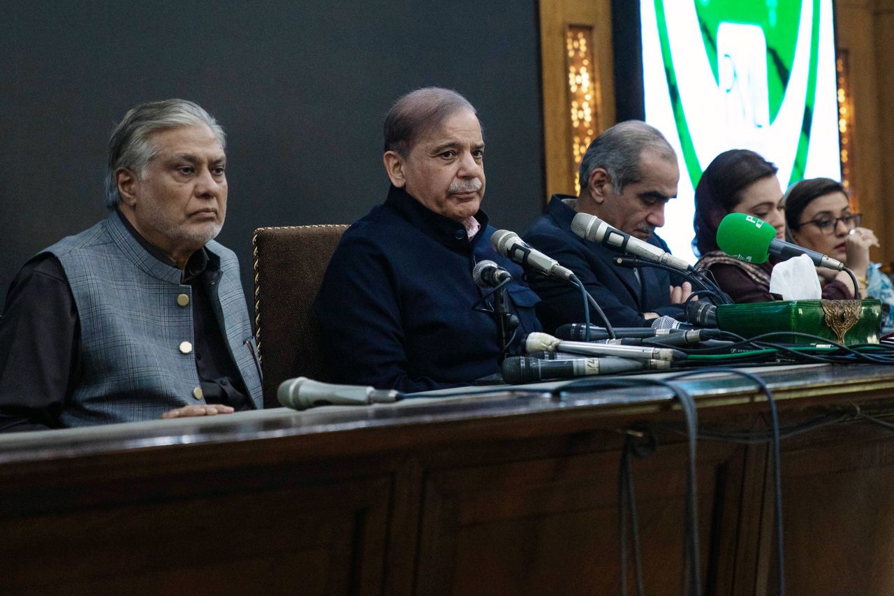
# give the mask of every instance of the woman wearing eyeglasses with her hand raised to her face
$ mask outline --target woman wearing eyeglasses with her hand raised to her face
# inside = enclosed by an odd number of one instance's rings
[[[869,262],[869,248],[879,241],[872,230],[860,226],[860,214],[851,213],[841,183],[812,178],[795,184],[786,194],[785,216],[791,242],[844,262],[854,272],[861,294],[880,299],[889,309],[894,306],[894,285]],[[853,285],[844,271],[816,271],[823,285],[832,280]],[[882,328],[886,333],[894,329],[894,312],[889,310]]]

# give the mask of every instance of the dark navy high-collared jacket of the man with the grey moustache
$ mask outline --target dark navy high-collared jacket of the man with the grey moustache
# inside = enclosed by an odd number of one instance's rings
[[[519,266],[491,248],[485,213],[475,217],[481,229],[470,243],[462,224],[392,186],[383,205],[345,231],[314,305],[334,381],[410,392],[498,372],[496,323],[472,310],[481,260],[512,274],[508,302],[521,320],[514,346],[540,330],[539,299]]]

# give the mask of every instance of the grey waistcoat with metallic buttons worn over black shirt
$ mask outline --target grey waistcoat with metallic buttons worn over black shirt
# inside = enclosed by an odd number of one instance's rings
[[[215,315],[251,402],[260,408],[239,261],[214,241],[206,248],[220,263],[221,275],[208,287]],[[191,350],[191,288],[181,285],[177,268],[140,246],[114,211],[46,252],[62,263],[80,319],[82,376],[63,408],[63,426],[153,420],[173,408],[205,403],[196,397],[201,392]],[[189,296],[186,306],[178,303],[180,294]]]

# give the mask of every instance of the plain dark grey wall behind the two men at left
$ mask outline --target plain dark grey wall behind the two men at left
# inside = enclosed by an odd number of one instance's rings
[[[384,114],[421,86],[477,107],[485,210],[523,231],[544,200],[536,13],[531,0],[0,2],[0,305],[25,260],[105,217],[109,133],[146,99],[192,99],[223,124],[218,240],[247,294],[256,227],[350,223],[384,200]]]

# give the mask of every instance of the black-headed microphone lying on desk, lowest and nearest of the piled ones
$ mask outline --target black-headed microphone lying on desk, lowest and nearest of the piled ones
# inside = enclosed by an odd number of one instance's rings
[[[669,369],[671,362],[640,361],[629,358],[572,358],[540,360],[533,356],[511,356],[502,363],[503,380],[510,385],[544,379],[570,379],[590,375],[611,375],[632,370]]]

